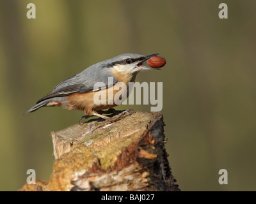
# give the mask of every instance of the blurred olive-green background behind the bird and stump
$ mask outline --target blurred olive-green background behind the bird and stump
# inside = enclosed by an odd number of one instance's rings
[[[28,3],[36,19],[28,19]],[[228,4],[228,19],[218,17]],[[160,53],[163,114],[173,175],[183,191],[256,190],[256,1],[0,1],[0,190],[15,191],[33,168],[52,171],[51,131],[83,112],[42,108],[53,87],[126,52]],[[150,112],[150,105],[118,106]],[[228,171],[228,185],[218,171]]]

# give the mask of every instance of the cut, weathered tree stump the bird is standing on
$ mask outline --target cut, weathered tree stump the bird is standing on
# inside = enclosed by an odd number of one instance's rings
[[[55,161],[49,182],[36,179],[19,191],[180,190],[164,147],[162,113],[131,113],[90,131],[93,122],[52,132]]]

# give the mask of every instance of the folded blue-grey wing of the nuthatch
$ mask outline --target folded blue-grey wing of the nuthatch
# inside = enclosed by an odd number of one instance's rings
[[[87,70],[88,69],[88,70]],[[96,73],[99,73],[97,71],[97,68],[93,70],[92,68],[87,68],[81,73],[75,75],[74,77],[70,77],[67,80],[61,82],[60,84],[56,85],[54,87],[53,91],[49,94],[45,95],[43,98],[39,99],[36,103],[40,103],[41,101],[44,101],[45,99],[54,98],[54,97],[61,97],[61,96],[68,96],[71,94],[84,94],[86,92],[92,92],[92,91],[99,91],[100,89],[94,90],[94,85],[97,82],[103,82],[106,84],[106,88],[110,87],[111,85],[115,85],[116,80],[113,75],[109,71],[104,71],[104,75],[100,73],[100,76]],[[87,71],[86,71],[87,70]],[[113,84],[108,84],[108,77],[113,77]]]

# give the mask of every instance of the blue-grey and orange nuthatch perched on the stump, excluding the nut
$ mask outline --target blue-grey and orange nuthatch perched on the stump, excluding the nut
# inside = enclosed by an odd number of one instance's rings
[[[123,82],[128,89],[129,82],[134,82],[138,72],[142,70],[155,69],[143,66],[145,61],[155,55],[158,54],[147,56],[132,53],[122,54],[111,59],[107,59],[106,61],[93,64],[74,77],[70,77],[56,85],[52,92],[39,99],[36,102],[36,105],[27,110],[24,114],[34,112],[38,108],[44,106],[63,106],[68,110],[83,110],[85,115],[81,117],[81,119],[95,115],[102,119],[111,121],[111,117],[100,113],[102,113],[101,110],[117,106],[116,103],[113,103],[112,100],[112,103],[96,105],[93,101],[93,96],[96,92],[111,91],[113,92],[112,96],[115,97],[117,92],[117,90],[115,90],[115,86],[118,85],[118,83],[120,84],[120,82]],[[109,77],[113,77],[113,84],[111,85],[108,84]],[[103,82],[106,84],[107,90],[94,90],[93,87],[97,82]],[[129,92],[127,91],[127,95],[128,93]]]

